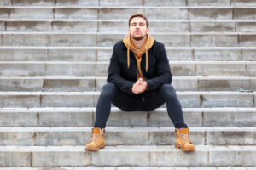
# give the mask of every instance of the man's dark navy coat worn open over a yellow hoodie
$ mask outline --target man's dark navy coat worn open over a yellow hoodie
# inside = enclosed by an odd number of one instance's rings
[[[150,94],[162,84],[172,83],[172,73],[166,49],[163,43],[154,41],[152,48],[148,50],[148,72],[146,72],[146,54],[142,56],[141,69],[143,77],[148,83],[148,90],[143,94]],[[132,94],[131,88],[137,82],[137,61],[130,50],[130,66],[127,66],[127,48],[123,41],[113,46],[113,54],[108,66],[108,83],[113,83],[121,91]]]

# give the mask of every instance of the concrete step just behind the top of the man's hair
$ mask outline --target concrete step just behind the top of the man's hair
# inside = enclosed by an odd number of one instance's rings
[[[255,20],[254,7],[1,7],[0,19],[85,19],[124,20],[143,13],[148,20]],[[119,15],[122,14],[122,15]]]

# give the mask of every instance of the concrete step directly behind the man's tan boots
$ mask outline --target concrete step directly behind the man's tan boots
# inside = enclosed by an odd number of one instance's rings
[[[92,127],[0,127],[0,145],[85,145]],[[189,127],[198,145],[255,145],[256,127]],[[106,127],[105,144],[173,145],[174,127]]]

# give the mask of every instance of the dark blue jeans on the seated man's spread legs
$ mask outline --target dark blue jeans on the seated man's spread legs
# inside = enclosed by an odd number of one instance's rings
[[[175,89],[171,84],[163,84],[147,99],[139,95],[125,94],[113,83],[105,84],[96,105],[96,122],[94,127],[106,127],[111,103],[123,111],[153,111],[166,102],[167,112],[176,128],[187,127],[183,119],[183,111]]]

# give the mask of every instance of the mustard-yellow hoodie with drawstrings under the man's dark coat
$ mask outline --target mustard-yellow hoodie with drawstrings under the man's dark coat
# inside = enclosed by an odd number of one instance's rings
[[[148,50],[153,46],[154,38],[148,35],[146,38],[146,41],[144,42],[143,48],[140,48],[140,49],[135,48],[135,45],[131,40],[130,34],[123,39],[123,42],[125,43],[125,46],[127,48],[128,68],[130,66],[130,49],[131,49],[131,51],[136,55],[135,59],[137,60],[137,68],[138,68],[138,75],[139,75],[138,78],[139,77],[143,78],[142,71],[141,71],[142,56],[144,53],[146,53],[146,71],[148,72]]]

